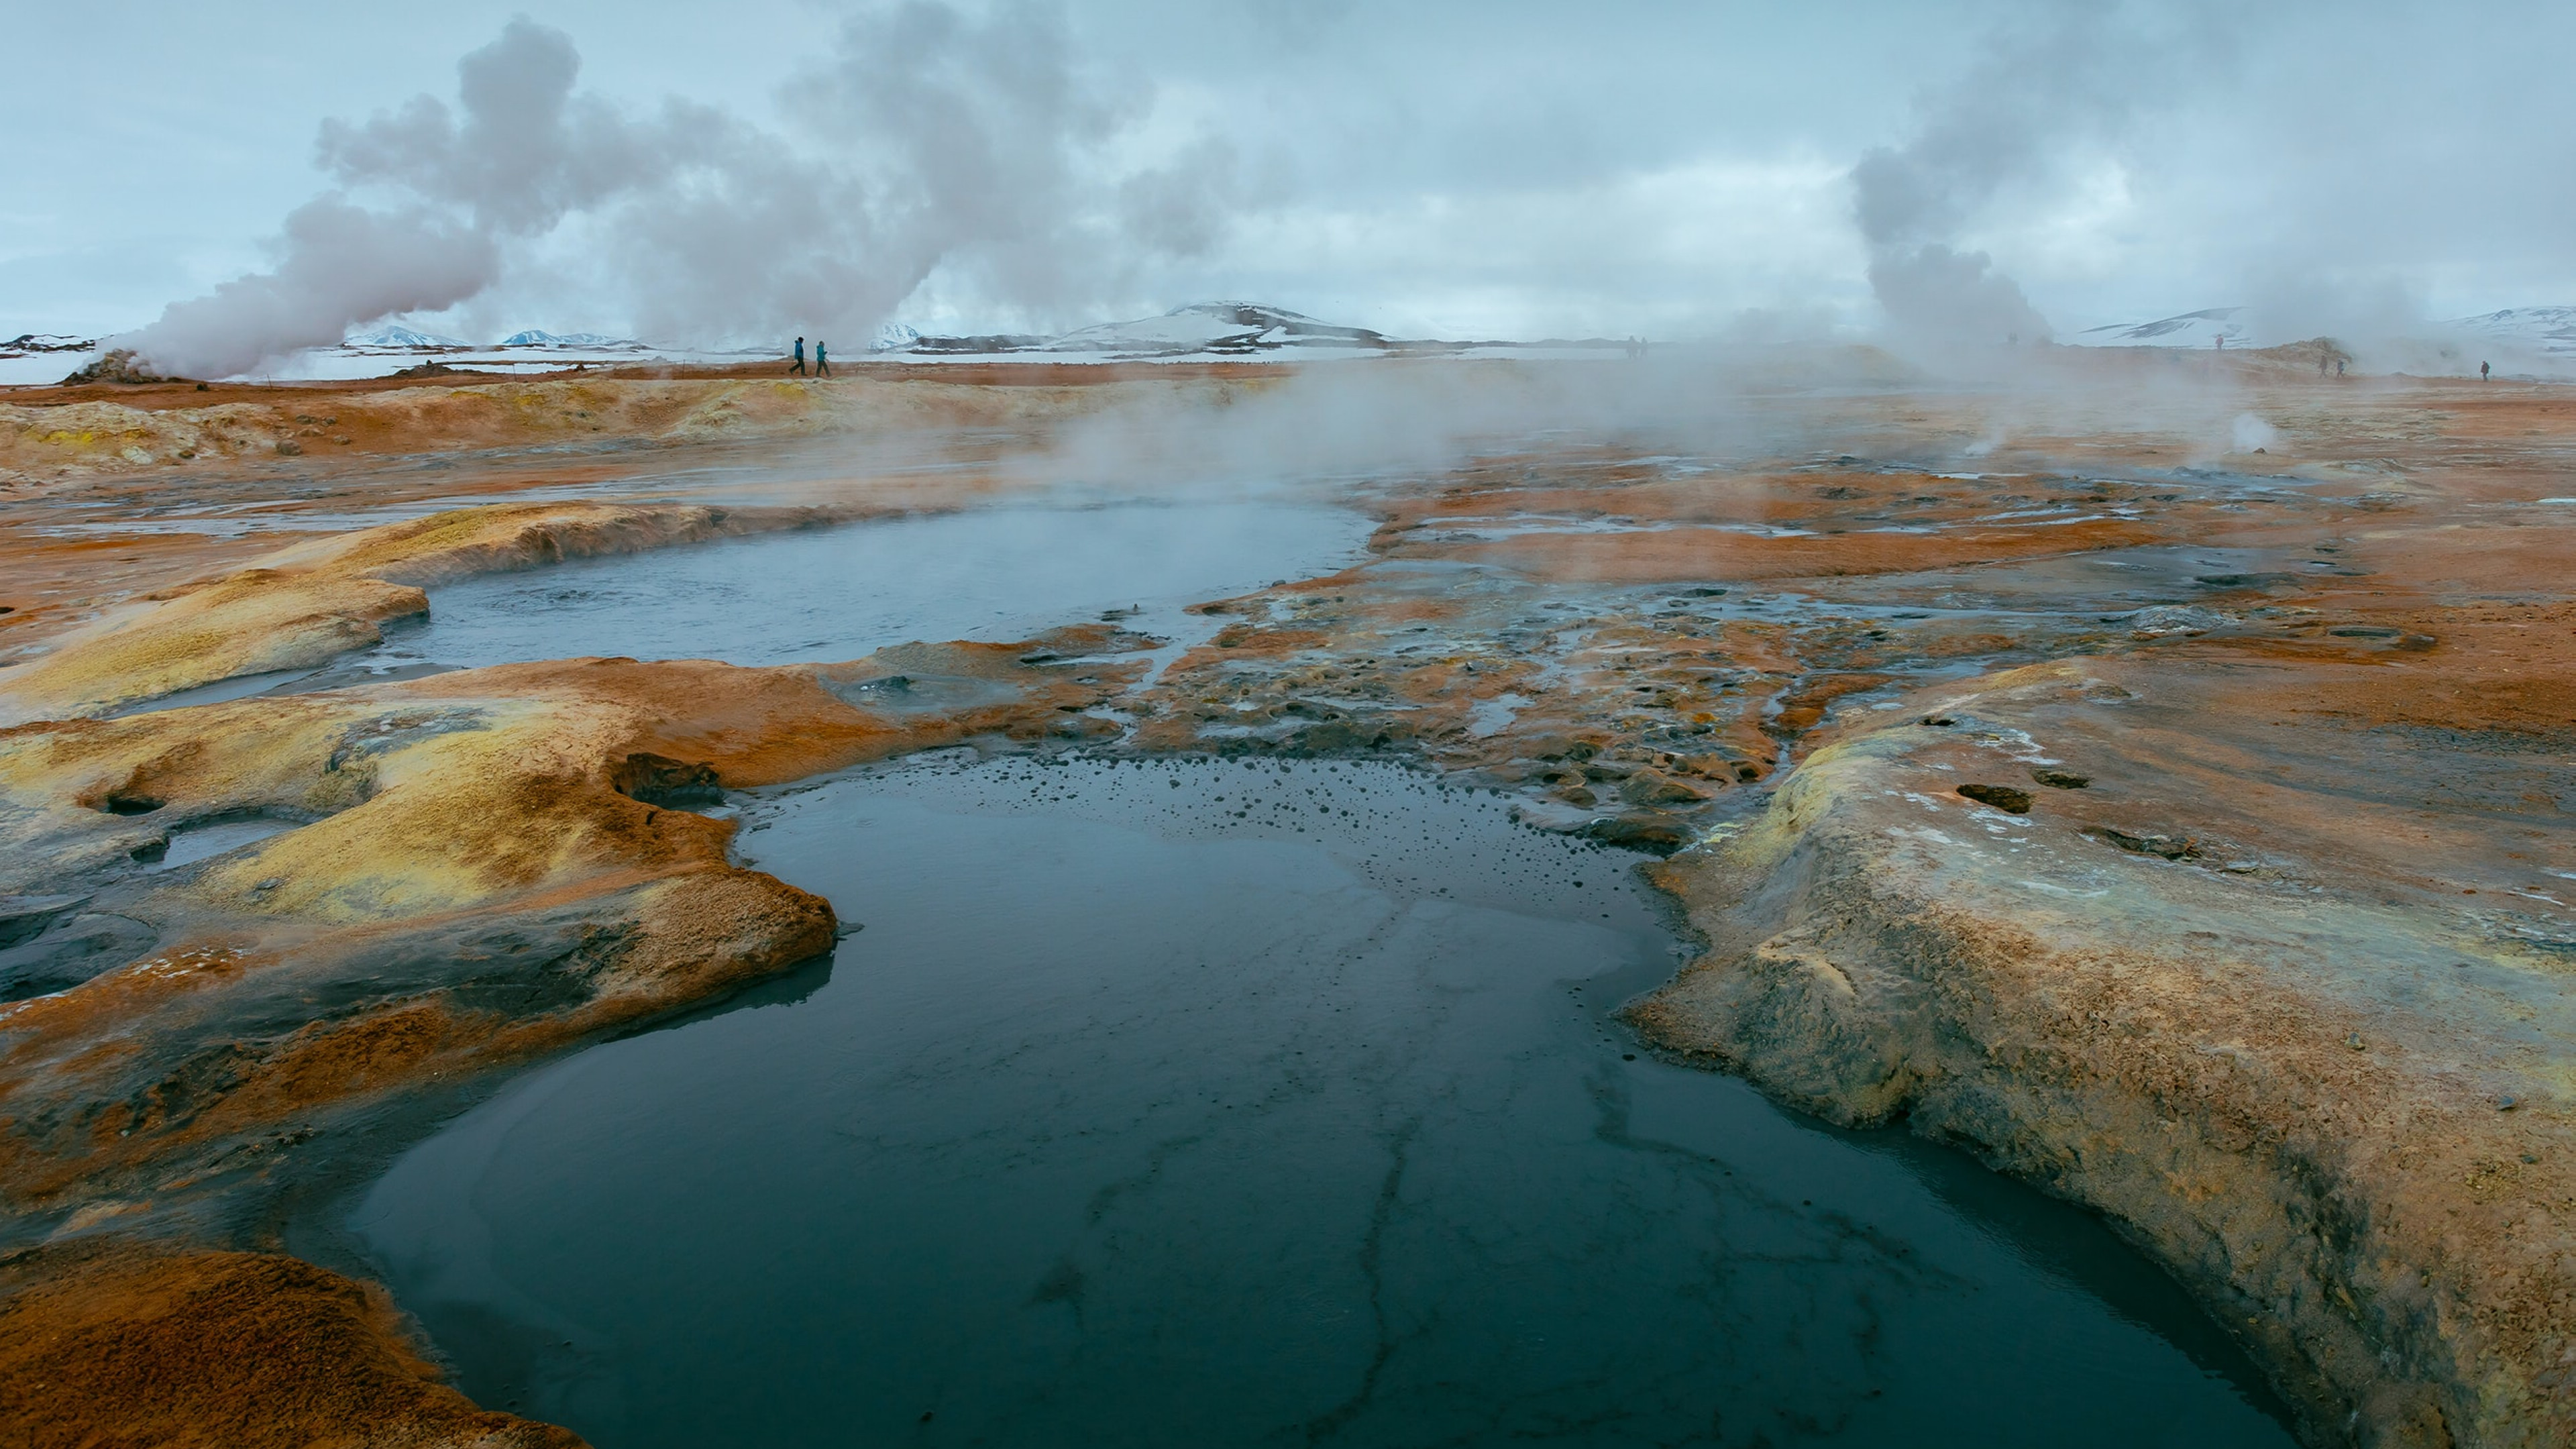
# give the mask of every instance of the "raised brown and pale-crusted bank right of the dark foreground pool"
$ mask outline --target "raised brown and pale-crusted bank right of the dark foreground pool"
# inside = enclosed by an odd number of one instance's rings
[[[1942,730],[1850,732],[1662,866],[1710,951],[1633,1016],[2128,1225],[2316,1423],[2568,1441],[2576,933],[2496,892],[2553,895],[2519,843],[2558,820],[2524,802],[2576,763],[2342,714],[2367,673],[2074,660],[1935,696]],[[2063,755],[2092,781],[2045,812],[1945,789]],[[2486,804],[2421,810],[2455,784]]]

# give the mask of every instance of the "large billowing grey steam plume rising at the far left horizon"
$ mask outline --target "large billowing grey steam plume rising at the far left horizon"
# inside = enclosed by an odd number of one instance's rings
[[[327,121],[317,160],[337,188],[286,217],[278,263],[116,345],[175,374],[250,371],[466,302],[572,219],[647,335],[866,335],[943,266],[1007,304],[1090,302],[1139,260],[1213,245],[1236,196],[1213,139],[1118,173],[1110,142],[1144,106],[1105,95],[1036,0],[855,15],[791,83],[796,139],[677,98],[636,116],[574,93],[572,39],[526,18],[456,72],[456,106]]]

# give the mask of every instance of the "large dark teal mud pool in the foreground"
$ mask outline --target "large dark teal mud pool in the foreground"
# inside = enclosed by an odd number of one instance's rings
[[[402,1155],[459,1385],[680,1444],[2290,1444],[2099,1222],[1638,1052],[1636,856],[1383,763],[739,797],[863,926]]]

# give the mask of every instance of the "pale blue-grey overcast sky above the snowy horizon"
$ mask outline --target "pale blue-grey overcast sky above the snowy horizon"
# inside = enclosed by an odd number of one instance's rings
[[[1989,253],[2058,335],[2236,302],[2326,322],[2576,302],[2566,3],[956,10],[920,52],[961,67],[943,90],[899,44],[927,31],[884,5],[8,0],[0,335],[152,322],[276,266],[286,217],[332,188],[489,235],[492,276],[430,315],[466,335],[747,338],[817,289],[899,291],[925,330],[1208,297],[1448,338],[1680,338],[1747,312],[1873,327],[1852,183],[1873,150],[1937,191],[1906,245]],[[325,121],[459,108],[459,59],[513,15],[569,39],[598,116],[690,144],[721,113],[729,150],[500,224],[399,157],[322,170]],[[992,95],[1023,75],[1061,95]],[[662,111],[675,95],[711,111]],[[1010,119],[979,131],[976,106]],[[958,134],[1028,155],[987,168],[992,191],[922,201]],[[848,191],[781,206],[804,175]],[[770,268],[804,268],[801,291],[757,286]]]

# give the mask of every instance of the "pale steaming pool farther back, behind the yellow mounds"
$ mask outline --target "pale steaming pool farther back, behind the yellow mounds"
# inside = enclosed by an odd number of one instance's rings
[[[1133,629],[1203,637],[1182,614],[1360,559],[1370,521],[1345,508],[1193,500],[1018,503],[755,534],[574,559],[430,590],[425,627],[366,668],[502,665],[564,655],[778,665],[912,639],[1025,639],[1126,611]]]

